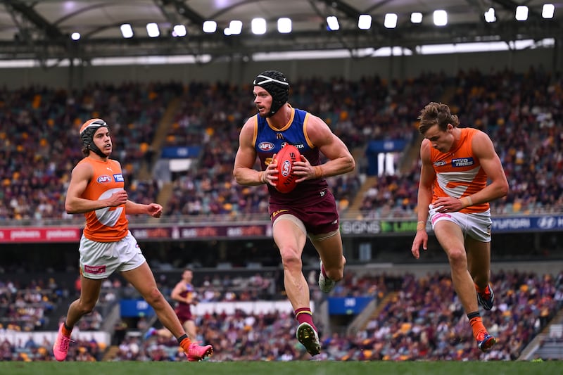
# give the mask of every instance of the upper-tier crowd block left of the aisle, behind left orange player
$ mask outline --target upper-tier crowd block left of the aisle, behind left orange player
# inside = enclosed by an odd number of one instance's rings
[[[113,158],[123,160],[125,175],[138,172],[155,125],[181,90],[178,84],[90,85],[73,93],[42,87],[0,90],[0,219],[69,218],[64,194],[70,170],[82,158],[78,130],[88,118],[102,117],[111,125]],[[132,184],[129,192],[139,200],[156,194],[135,191]]]

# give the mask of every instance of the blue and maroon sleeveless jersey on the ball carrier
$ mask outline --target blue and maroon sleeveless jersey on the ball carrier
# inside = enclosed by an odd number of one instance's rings
[[[321,162],[320,152],[307,136],[307,122],[310,113],[298,108],[291,108],[291,118],[281,129],[276,129],[267,121],[267,118],[255,115],[254,148],[260,158],[260,167],[266,169],[267,164],[272,161],[274,153],[286,144],[296,146],[301,155],[305,156],[311,165],[319,165]],[[327,191],[325,179],[307,179],[297,184],[296,188],[289,193],[280,193],[274,186],[268,185],[270,191],[270,203],[310,205],[316,201],[315,198],[324,196]]]

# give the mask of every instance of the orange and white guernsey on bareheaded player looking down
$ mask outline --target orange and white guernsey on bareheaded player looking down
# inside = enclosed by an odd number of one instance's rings
[[[445,196],[453,198],[470,196],[487,186],[487,175],[481,168],[479,159],[474,157],[471,146],[473,136],[479,130],[472,128],[460,130],[462,135],[454,150],[442,153],[436,148],[430,149],[430,161],[436,172],[433,202]],[[475,213],[488,209],[489,204],[482,203],[464,208],[460,212]]]

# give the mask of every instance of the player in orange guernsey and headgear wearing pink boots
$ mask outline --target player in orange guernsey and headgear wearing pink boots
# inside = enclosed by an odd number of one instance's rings
[[[80,139],[85,157],[72,170],[65,210],[86,217],[79,248],[82,288],[80,298],[70,304],[65,322],[58,330],[53,345],[56,360],[65,360],[72,327],[94,309],[102,280],[115,271],[121,272],[153,307],[163,326],[177,338],[187,359],[203,360],[213,353],[213,348],[190,341],[174,310],[158,290],[153,272],[128,229],[126,213],[160,217],[162,206],[127,199],[121,165],[109,158],[112,142],[106,122],[99,118],[84,122]]]

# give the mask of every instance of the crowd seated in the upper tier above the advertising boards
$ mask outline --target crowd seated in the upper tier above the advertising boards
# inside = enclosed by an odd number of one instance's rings
[[[72,166],[80,160],[77,129],[89,117],[112,127],[114,158],[122,160],[130,198],[155,201],[162,182],[138,179],[150,170],[156,127],[167,108],[176,108],[164,146],[201,146],[191,170],[178,174],[165,215],[222,215],[248,219],[266,212],[266,189],[232,179],[238,131],[253,115],[251,87],[232,84],[91,85],[69,93],[28,87],[2,91],[0,108],[0,219],[42,222],[68,219],[63,210]],[[176,100],[175,100],[176,99]],[[179,99],[179,100],[178,100]],[[416,119],[429,101],[448,101],[462,126],[488,132],[510,182],[507,198],[493,213],[560,211],[563,207],[563,84],[541,70],[460,72],[456,77],[423,74],[413,80],[359,82],[319,79],[294,82],[290,103],[324,119],[351,150],[374,139],[417,139]],[[171,103],[178,102],[179,106]],[[358,172],[368,161],[360,151]],[[368,186],[363,217],[412,217],[419,165],[378,177]],[[358,174],[330,181],[341,212],[362,180]],[[75,220],[81,220],[80,217]]]

